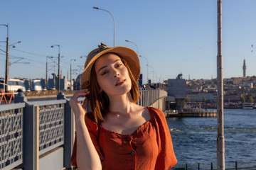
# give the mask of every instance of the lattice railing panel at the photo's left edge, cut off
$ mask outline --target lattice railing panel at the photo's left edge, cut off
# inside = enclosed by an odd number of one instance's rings
[[[23,108],[0,111],[0,169],[22,163]]]

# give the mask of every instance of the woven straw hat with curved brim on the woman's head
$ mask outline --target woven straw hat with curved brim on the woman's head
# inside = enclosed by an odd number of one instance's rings
[[[127,64],[129,65],[129,68],[132,71],[132,74],[134,76],[134,79],[138,81],[139,74],[140,74],[140,64],[139,64],[139,57],[134,50],[132,50],[129,47],[109,47],[103,43],[101,45],[98,45],[98,48],[95,50],[92,50],[89,55],[87,55],[87,59],[85,62],[85,70],[82,72],[82,79],[81,79],[81,88],[87,89],[90,85],[90,72],[92,69],[92,65],[95,63],[97,58],[100,56],[113,52],[127,61]]]

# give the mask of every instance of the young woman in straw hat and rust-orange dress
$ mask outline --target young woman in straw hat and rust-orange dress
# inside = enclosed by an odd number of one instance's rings
[[[70,99],[76,129],[73,166],[164,170],[177,163],[164,113],[136,104],[139,74],[139,57],[128,47],[101,44],[87,55],[82,90]],[[80,96],[86,96],[82,106]]]

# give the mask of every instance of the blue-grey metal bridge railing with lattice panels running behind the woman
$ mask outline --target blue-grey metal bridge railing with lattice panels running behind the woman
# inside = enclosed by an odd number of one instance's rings
[[[140,91],[140,106],[165,106],[166,91]],[[82,104],[85,98],[79,98]],[[15,103],[0,106],[0,169],[63,169],[70,167],[75,138],[75,121],[69,100],[60,92],[57,100],[28,102],[23,93]],[[87,108],[90,111],[90,108]],[[61,148],[62,155],[53,164],[42,158]],[[51,159],[50,158],[50,159]],[[39,164],[40,163],[40,164]]]

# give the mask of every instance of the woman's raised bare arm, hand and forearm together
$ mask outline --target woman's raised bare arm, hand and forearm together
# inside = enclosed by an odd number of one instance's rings
[[[82,106],[78,102],[80,96],[90,94],[88,89],[76,91],[70,98],[70,106],[75,114],[75,130],[77,137],[77,164],[78,169],[102,169],[99,154],[92,143],[90,134],[85,125],[85,113],[88,99],[85,98]]]

